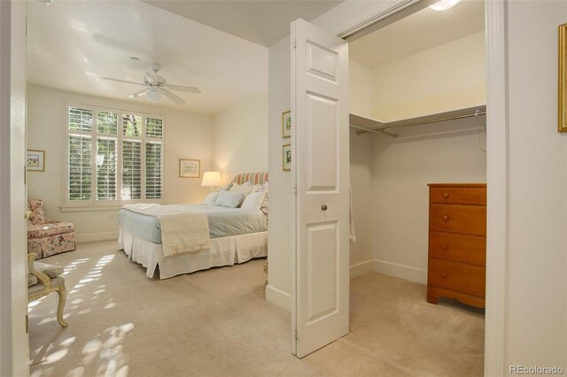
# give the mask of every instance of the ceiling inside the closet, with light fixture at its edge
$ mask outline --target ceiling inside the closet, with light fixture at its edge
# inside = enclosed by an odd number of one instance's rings
[[[425,8],[349,43],[350,58],[375,68],[485,29],[485,3],[464,0],[445,12]]]

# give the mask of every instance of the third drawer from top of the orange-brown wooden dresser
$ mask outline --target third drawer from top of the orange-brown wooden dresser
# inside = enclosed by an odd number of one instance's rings
[[[430,232],[429,256],[485,266],[486,238],[477,235]]]

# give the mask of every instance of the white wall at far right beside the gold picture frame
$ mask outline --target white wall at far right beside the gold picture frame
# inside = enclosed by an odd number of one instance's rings
[[[506,366],[567,370],[567,134],[557,132],[557,26],[565,14],[566,2],[508,4]]]

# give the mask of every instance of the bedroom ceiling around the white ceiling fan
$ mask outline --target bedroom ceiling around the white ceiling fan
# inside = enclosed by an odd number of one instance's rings
[[[126,99],[153,62],[187,104],[159,105],[214,114],[268,91],[268,49],[139,1],[27,3],[28,82],[92,96]],[[133,62],[130,57],[140,58]],[[136,102],[147,102],[145,96]]]

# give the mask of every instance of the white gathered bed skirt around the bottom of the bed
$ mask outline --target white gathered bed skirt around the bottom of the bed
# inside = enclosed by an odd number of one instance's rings
[[[194,273],[221,265],[243,263],[268,256],[268,232],[212,238],[211,247],[198,254],[164,258],[160,243],[145,241],[120,227],[118,247],[134,262],[146,267],[146,276],[153,277],[159,265],[159,279],[183,273]]]

